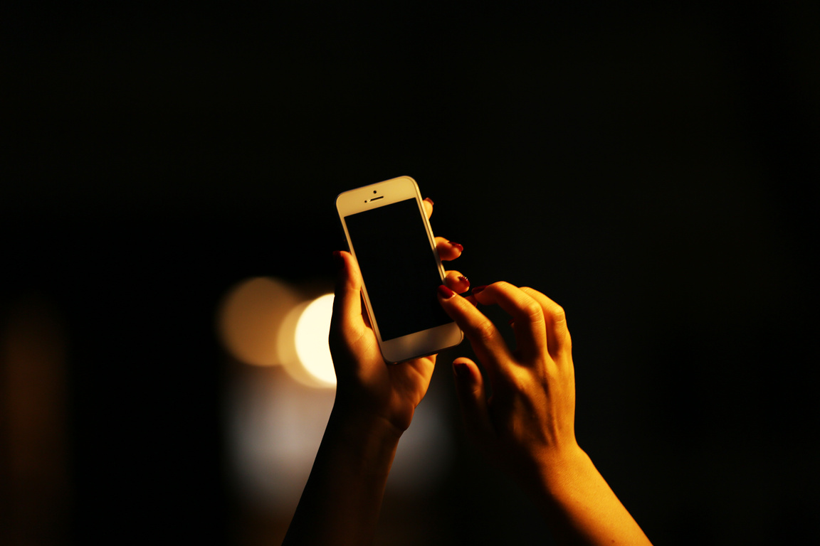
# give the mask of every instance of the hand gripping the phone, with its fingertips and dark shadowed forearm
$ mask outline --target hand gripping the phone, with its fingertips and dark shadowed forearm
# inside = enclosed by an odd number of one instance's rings
[[[424,201],[428,218],[433,202]],[[453,260],[463,247],[435,238],[440,258]],[[325,435],[283,544],[371,544],[399,438],[412,422],[435,368],[436,355],[385,363],[367,313],[362,275],[348,252],[335,252],[338,274],[330,354],[336,397]],[[467,291],[470,283],[449,271],[445,284]]]

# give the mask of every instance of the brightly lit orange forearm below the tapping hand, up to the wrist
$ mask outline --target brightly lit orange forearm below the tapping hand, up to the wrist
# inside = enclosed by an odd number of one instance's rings
[[[537,472],[531,492],[561,544],[650,544],[581,448],[544,458]]]

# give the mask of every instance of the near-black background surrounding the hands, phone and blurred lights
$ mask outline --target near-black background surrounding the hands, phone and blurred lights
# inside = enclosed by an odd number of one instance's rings
[[[115,4],[0,16],[3,320],[66,355],[63,508],[6,460],[9,529],[240,542],[217,302],[329,279],[336,194],[407,174],[473,285],[567,309],[579,441],[650,539],[820,538],[816,4]],[[448,481],[385,517],[540,544],[451,409]]]

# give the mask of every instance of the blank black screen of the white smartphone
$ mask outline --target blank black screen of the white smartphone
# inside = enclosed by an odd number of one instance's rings
[[[441,284],[415,199],[345,217],[381,339],[452,323],[441,309]]]

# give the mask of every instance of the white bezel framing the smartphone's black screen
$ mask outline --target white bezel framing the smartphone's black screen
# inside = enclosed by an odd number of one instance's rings
[[[345,221],[347,216],[413,198],[416,200],[421,222],[424,223],[427,239],[430,241],[430,251],[433,253],[435,263],[438,265],[441,282],[444,283],[444,265],[441,264],[439,253],[435,250],[435,237],[433,237],[430,221],[427,219],[424,205],[421,202],[421,192],[419,192],[416,181],[409,176],[400,176],[379,183],[358,187],[340,193],[339,196],[336,197],[336,210],[339,213],[339,220],[344,229],[344,237],[346,237],[348,241],[348,248],[355,259],[356,246],[353,241],[351,241],[350,233],[348,232],[347,222]],[[367,295],[367,279],[362,279],[362,299],[367,308],[367,314],[370,317],[373,332],[376,333],[376,340],[379,343],[381,354],[385,360],[390,363],[399,363],[437,353],[453,345],[458,345],[464,337],[464,334],[456,323],[446,323],[438,327],[413,332],[406,336],[384,341],[381,339],[381,333],[379,331],[379,320],[374,317],[370,298]]]

